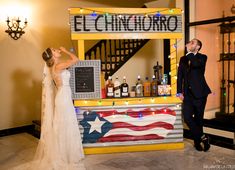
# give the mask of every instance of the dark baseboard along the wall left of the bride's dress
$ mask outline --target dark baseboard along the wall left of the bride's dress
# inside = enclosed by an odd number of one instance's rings
[[[0,130],[0,137],[14,135],[18,133],[33,133],[34,125],[26,125],[21,127]]]

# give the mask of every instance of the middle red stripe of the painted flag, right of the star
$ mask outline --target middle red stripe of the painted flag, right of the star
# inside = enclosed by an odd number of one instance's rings
[[[112,129],[116,128],[128,128],[134,131],[144,131],[144,130],[149,130],[153,128],[165,128],[165,129],[173,129],[174,126],[172,124],[166,123],[166,122],[154,122],[145,126],[135,126],[129,123],[125,122],[115,122],[113,123]]]

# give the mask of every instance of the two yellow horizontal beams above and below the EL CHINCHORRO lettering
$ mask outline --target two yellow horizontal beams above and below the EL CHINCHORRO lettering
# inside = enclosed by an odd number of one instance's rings
[[[91,14],[161,14],[182,15],[179,8],[70,8],[70,15]],[[128,11],[128,12],[127,12]],[[182,33],[72,33],[72,40],[99,40],[99,39],[171,39],[182,38]]]

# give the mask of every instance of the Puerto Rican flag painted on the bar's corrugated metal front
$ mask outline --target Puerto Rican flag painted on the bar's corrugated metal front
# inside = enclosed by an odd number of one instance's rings
[[[174,129],[175,111],[169,108],[80,110],[83,143],[165,139]]]

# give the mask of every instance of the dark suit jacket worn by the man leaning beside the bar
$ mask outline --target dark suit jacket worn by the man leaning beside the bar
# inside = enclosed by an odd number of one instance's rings
[[[211,93],[208,87],[204,73],[207,56],[204,54],[193,53],[180,58],[177,76],[177,93],[187,95],[188,89],[197,99],[207,96]]]

